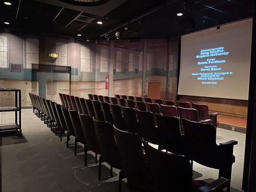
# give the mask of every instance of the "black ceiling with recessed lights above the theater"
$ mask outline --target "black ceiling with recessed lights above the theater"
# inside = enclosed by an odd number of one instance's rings
[[[97,6],[71,5],[62,0],[0,0],[0,32],[98,40],[105,40],[106,34],[116,39],[115,33],[120,32],[120,39],[132,41],[169,39],[252,15],[253,0],[104,0]],[[10,24],[4,24],[6,21]]]

